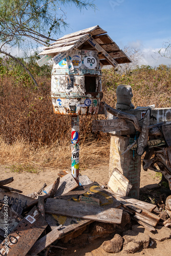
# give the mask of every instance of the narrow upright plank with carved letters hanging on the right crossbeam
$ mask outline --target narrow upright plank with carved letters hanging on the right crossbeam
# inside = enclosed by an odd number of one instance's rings
[[[148,132],[149,132],[149,128],[147,126],[149,125],[150,112],[151,110],[147,110],[145,113],[145,116],[143,118],[142,131],[138,138],[137,154],[139,156],[141,156],[144,153],[145,147],[147,145]]]

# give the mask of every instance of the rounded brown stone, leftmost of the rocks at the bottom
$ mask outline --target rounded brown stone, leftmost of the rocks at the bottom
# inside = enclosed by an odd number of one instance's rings
[[[123,238],[119,234],[115,234],[110,241],[104,241],[101,245],[102,249],[109,253],[117,253],[122,250]]]

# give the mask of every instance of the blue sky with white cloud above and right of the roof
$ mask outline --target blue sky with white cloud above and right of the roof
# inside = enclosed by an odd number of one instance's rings
[[[124,46],[140,49],[141,64],[171,65],[171,59],[159,58],[157,54],[163,42],[171,41],[171,1],[95,0],[94,4],[96,11],[84,9],[80,12],[74,5],[61,7],[67,13],[69,28],[59,37],[99,25],[121,49]]]

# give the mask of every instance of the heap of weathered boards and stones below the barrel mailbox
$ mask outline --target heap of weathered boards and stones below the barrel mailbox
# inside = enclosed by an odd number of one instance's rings
[[[83,227],[92,223],[95,229],[97,223],[101,223],[98,225],[101,225],[103,234],[117,233],[112,240],[103,243],[102,248],[107,252],[135,252],[140,246],[147,248],[151,239],[162,241],[171,236],[171,221],[168,218],[161,224],[156,205],[116,195],[92,182],[86,175],[80,176],[79,186],[73,176],[67,174],[58,177],[48,187],[44,184],[38,193],[28,196],[5,186],[12,181],[12,177],[0,181],[1,255],[37,255],[45,248],[45,254],[52,247],[61,249],[52,244],[64,237],[65,241],[69,241],[68,237],[78,236],[85,230]],[[171,217],[171,196],[166,200],[166,209]],[[125,231],[131,219],[141,225],[143,239],[138,235],[138,226]],[[118,234],[117,228],[125,232],[123,237]],[[159,234],[161,230],[164,238]],[[91,231],[89,242],[99,237],[97,233]]]

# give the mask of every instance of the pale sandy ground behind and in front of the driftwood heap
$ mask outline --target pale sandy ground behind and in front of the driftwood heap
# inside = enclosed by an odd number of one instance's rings
[[[44,183],[50,185],[54,182],[55,178],[58,177],[58,174],[62,173],[63,170],[55,168],[45,168],[39,171],[38,174],[32,173],[12,173],[8,168],[9,165],[0,165],[1,170],[1,180],[13,177],[14,181],[10,184],[11,187],[17,188],[23,191],[23,194],[27,195],[33,191],[38,191]],[[65,169],[70,172],[70,168]],[[97,181],[100,185],[105,185],[108,182],[109,176],[109,166],[108,163],[104,163],[103,166],[92,166],[88,169],[80,170],[81,175],[87,175],[92,181]],[[159,183],[160,179],[155,176],[155,172],[142,170],[141,172],[141,182],[140,187],[143,187],[147,184]],[[106,240],[106,239],[105,239]],[[100,245],[104,239],[97,239],[93,242],[92,245],[84,247],[72,247],[66,252],[63,252],[71,256],[107,256],[111,253],[104,252]],[[154,243],[152,247],[147,249],[142,249],[139,252],[134,253],[134,255],[151,255],[151,256],[170,256],[171,240],[166,240],[163,242]],[[54,254],[58,255],[58,253]],[[112,255],[132,255],[132,254],[123,254],[123,252],[115,253]]]

